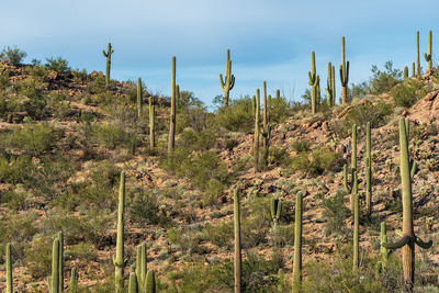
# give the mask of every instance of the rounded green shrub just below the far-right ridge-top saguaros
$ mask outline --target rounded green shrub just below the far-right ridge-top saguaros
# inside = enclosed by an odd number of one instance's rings
[[[392,89],[393,100],[396,105],[410,108],[429,92],[419,80],[407,80]]]

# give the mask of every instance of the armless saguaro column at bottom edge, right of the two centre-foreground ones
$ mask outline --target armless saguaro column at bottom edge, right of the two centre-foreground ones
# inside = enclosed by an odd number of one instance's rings
[[[302,193],[295,198],[293,293],[302,292]]]

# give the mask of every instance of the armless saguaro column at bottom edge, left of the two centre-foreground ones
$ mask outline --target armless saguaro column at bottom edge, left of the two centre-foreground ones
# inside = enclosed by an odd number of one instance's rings
[[[240,212],[239,212],[239,194],[238,190],[234,191],[234,227],[235,227],[235,259],[234,259],[234,272],[235,272],[235,293],[241,292],[241,252],[240,252]]]

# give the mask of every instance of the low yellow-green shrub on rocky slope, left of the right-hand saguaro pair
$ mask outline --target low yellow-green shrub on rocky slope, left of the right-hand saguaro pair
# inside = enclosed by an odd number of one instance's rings
[[[323,174],[328,170],[337,170],[339,155],[329,147],[314,149],[311,154],[301,151],[292,158],[292,169],[305,174]]]

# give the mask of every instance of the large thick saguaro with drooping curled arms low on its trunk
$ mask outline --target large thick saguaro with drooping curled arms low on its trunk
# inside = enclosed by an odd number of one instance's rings
[[[383,241],[381,245],[387,249],[402,248],[405,289],[406,291],[412,292],[415,282],[415,244],[420,248],[428,249],[431,247],[432,241],[423,241],[415,235],[413,226],[412,178],[408,158],[408,139],[404,119],[399,120],[399,170],[403,196],[403,235],[396,243]]]

